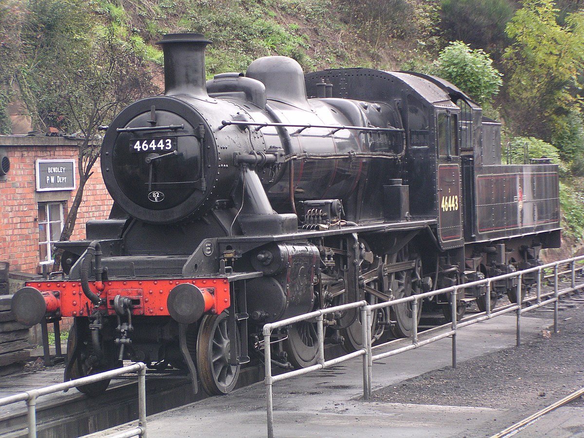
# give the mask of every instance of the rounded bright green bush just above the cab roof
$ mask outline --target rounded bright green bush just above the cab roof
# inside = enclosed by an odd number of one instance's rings
[[[452,82],[478,103],[490,102],[503,84],[502,74],[482,49],[472,50],[462,41],[444,48],[437,60],[436,74]]]

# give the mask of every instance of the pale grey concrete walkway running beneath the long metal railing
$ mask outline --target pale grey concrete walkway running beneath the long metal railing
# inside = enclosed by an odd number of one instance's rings
[[[523,317],[522,339],[529,342],[550,326],[549,319]],[[516,318],[505,315],[458,334],[459,367],[464,360],[513,347]],[[395,385],[451,365],[451,340],[385,359],[373,366],[373,390]],[[472,422],[496,422],[502,409],[364,402],[361,359],[274,384],[276,437],[450,437],[464,436]],[[135,425],[136,423],[134,423]],[[503,424],[502,424],[503,426]],[[112,433],[121,428],[109,429]],[[267,436],[263,383],[204,399],[148,417],[151,437]],[[494,430],[496,432],[496,430]],[[92,434],[92,438],[106,433]]]

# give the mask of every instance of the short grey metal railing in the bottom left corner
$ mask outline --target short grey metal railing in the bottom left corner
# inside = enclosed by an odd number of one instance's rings
[[[36,438],[36,402],[37,398],[41,397],[41,395],[70,390],[74,387],[96,383],[101,380],[118,377],[127,373],[138,374],[138,426],[134,427],[134,429],[110,435],[110,438],[130,438],[133,436],[146,438],[146,365],[142,362],[137,362],[115,370],[104,371],[103,373],[91,374],[91,376],[76,378],[75,380],[69,380],[67,382],[50,385],[44,388],[37,388],[36,390],[19,392],[19,394],[0,398],[0,406],[26,401],[28,437]]]

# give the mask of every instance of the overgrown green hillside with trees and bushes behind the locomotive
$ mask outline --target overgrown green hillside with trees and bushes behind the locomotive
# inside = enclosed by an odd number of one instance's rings
[[[558,162],[566,236],[576,244],[584,234],[582,8],[584,0],[4,0],[0,132],[24,115],[41,132],[92,137],[128,102],[161,91],[155,43],[170,32],[213,41],[208,77],[274,54],[305,71],[416,69],[449,79],[502,120],[510,160]]]

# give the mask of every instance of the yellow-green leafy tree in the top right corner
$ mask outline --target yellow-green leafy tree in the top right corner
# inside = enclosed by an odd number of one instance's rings
[[[523,0],[506,29],[513,39],[504,55],[509,115],[523,133],[545,140],[559,137],[566,114],[580,106],[584,12],[567,15],[563,25],[558,13],[552,0]]]

